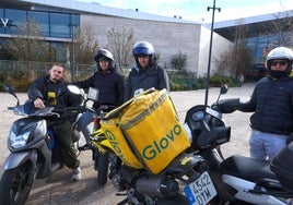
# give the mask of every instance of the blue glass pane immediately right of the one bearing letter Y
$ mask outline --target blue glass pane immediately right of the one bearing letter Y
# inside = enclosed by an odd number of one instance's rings
[[[40,27],[43,35],[49,36],[49,14],[46,12],[28,11],[28,19],[31,21],[36,21]]]

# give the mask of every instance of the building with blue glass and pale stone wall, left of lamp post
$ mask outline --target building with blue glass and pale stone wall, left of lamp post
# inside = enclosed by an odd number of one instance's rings
[[[98,45],[105,48],[109,29],[131,28],[136,40],[153,44],[162,68],[172,69],[172,58],[180,52],[187,56],[187,71],[197,76],[207,75],[211,32],[197,22],[71,0],[1,1],[0,19],[0,43],[13,37],[15,27],[24,20],[37,20],[44,28],[45,39],[55,48],[56,60],[65,58],[61,55],[65,43],[72,41],[75,27],[91,26]],[[213,58],[232,46],[218,34],[213,38]],[[212,61],[211,73],[215,70],[216,64]]]

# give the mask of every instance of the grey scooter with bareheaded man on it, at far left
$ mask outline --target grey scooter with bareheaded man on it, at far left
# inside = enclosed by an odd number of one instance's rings
[[[17,100],[14,107],[8,109],[22,118],[15,120],[10,130],[8,148],[11,153],[3,164],[0,204],[24,204],[35,179],[49,177],[63,166],[54,133],[60,114],[52,107],[36,109],[33,101],[20,105],[13,87],[3,85],[3,88]],[[74,112],[75,109],[78,107],[69,111]],[[79,137],[74,135],[73,140]]]

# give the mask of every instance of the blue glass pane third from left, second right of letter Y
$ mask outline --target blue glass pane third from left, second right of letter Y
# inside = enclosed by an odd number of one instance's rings
[[[50,13],[50,36],[70,38],[70,14]]]

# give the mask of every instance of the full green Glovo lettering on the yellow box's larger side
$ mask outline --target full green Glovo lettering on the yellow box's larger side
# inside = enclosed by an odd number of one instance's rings
[[[163,137],[157,141],[153,141],[151,144],[146,145],[141,154],[144,159],[152,160],[164,149],[167,149],[172,143],[174,143],[175,137],[180,135],[181,126],[175,124],[174,128]]]

